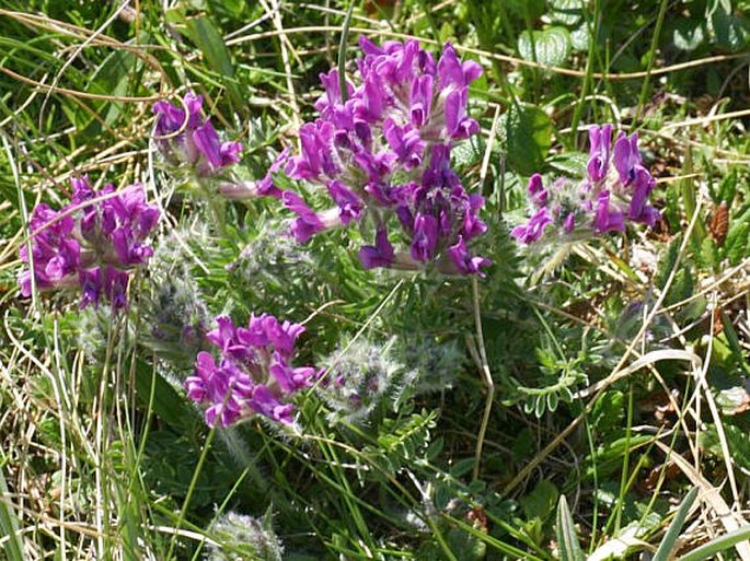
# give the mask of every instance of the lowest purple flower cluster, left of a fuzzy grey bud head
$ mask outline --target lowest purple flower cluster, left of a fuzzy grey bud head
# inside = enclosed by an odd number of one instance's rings
[[[304,327],[279,322],[268,314],[252,315],[247,327],[235,327],[229,317],[217,318],[207,334],[221,349],[221,360],[198,353],[195,375],[185,381],[187,396],[206,408],[206,423],[230,424],[261,413],[285,424],[292,422],[290,398],[321,374],[312,366],[291,365],[295,342]]]

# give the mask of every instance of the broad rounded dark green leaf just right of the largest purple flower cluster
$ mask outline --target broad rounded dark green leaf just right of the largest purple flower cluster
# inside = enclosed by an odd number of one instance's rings
[[[500,117],[499,135],[508,164],[520,174],[531,175],[542,167],[552,145],[552,121],[533,105],[512,106]]]

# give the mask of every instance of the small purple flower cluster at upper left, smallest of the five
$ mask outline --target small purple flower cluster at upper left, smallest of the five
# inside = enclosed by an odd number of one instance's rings
[[[157,116],[157,144],[172,165],[187,164],[199,177],[217,174],[240,161],[240,142],[221,142],[210,119],[200,118],[203,97],[185,94],[183,107],[170,102],[153,104]]]

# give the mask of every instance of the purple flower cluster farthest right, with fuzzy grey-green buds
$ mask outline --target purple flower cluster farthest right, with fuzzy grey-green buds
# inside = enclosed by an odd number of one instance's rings
[[[621,131],[613,145],[611,125],[592,127],[589,144],[587,173],[579,184],[561,178],[545,188],[539,174],[531,176],[527,191],[533,214],[511,232],[521,244],[550,235],[624,231],[626,221],[654,226],[661,219],[648,204],[656,179],[643,165],[637,135]]]

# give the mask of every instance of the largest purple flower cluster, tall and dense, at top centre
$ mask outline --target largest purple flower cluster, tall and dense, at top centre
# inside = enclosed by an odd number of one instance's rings
[[[374,239],[359,250],[365,268],[435,264],[446,273],[483,274],[488,259],[466,244],[486,231],[484,199],[469,195],[450,165],[453,143],[480,130],[466,103],[481,67],[461,62],[450,44],[437,61],[416,40],[379,47],[360,37],[359,45],[359,85],[347,82],[343,97],[338,71],[321,74],[320,117],[301,127],[301,153],[284,156],[290,178],[321,185],[335,203],[318,212],[300,195],[277,191],[297,214],[291,233],[305,243],[367,219]],[[395,237],[408,252],[394,249]]]

